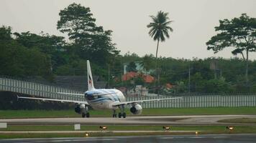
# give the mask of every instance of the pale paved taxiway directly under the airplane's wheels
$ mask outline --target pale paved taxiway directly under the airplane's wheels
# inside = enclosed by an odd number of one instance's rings
[[[0,119],[7,124],[183,124],[183,125],[224,125],[220,119],[256,118],[256,115],[193,115],[193,116],[148,116],[148,117],[92,117],[92,118],[36,118]],[[246,125],[246,124],[242,124]]]

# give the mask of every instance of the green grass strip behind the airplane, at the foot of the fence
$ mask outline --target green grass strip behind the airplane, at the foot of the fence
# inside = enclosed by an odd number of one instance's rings
[[[134,116],[126,110],[127,116]],[[91,117],[111,117],[110,110],[90,111]],[[196,114],[256,114],[256,107],[143,109],[140,116]],[[0,118],[81,117],[73,110],[0,110]]]

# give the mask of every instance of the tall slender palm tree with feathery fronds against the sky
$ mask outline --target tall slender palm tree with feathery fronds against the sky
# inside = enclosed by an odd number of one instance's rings
[[[165,36],[169,38],[169,31],[173,31],[173,29],[168,26],[172,21],[168,21],[168,13],[165,13],[163,11],[158,11],[157,16],[150,16],[152,18],[152,22],[147,25],[147,28],[150,28],[150,31],[148,32],[151,37],[153,37],[154,41],[157,40],[157,51],[155,53],[155,71],[157,71],[157,53],[158,53],[158,46],[159,41],[165,41]],[[159,86],[159,71],[157,71],[157,84]],[[158,90],[157,90],[158,91]],[[157,95],[159,95],[159,92],[157,92]]]

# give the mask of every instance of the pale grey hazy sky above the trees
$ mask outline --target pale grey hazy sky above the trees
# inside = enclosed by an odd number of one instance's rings
[[[232,19],[247,13],[256,17],[256,0],[1,0],[0,26],[12,26],[13,31],[65,36],[56,29],[58,13],[73,2],[90,7],[96,24],[111,29],[117,49],[124,54],[140,56],[154,54],[156,41],[148,35],[150,15],[157,11],[169,13],[173,33],[160,43],[159,55],[173,58],[209,56],[233,57],[232,48],[213,54],[207,51],[206,41],[214,36],[219,19]],[[256,52],[250,54],[256,59]]]

